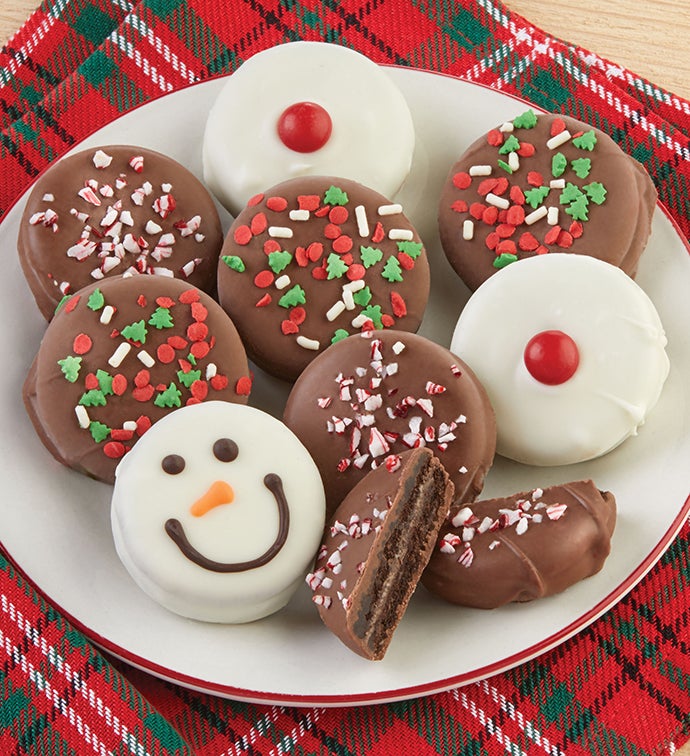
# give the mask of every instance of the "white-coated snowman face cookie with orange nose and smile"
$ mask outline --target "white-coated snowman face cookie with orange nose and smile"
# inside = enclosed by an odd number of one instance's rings
[[[120,463],[111,522],[135,582],[167,609],[248,622],[290,599],[325,501],[297,437],[260,410],[204,402],[156,423]]]

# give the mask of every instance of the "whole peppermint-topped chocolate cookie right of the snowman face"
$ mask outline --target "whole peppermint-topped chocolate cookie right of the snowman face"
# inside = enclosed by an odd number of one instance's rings
[[[461,500],[481,491],[496,446],[493,409],[474,373],[417,334],[368,332],[319,355],[292,388],[284,419],[309,449],[328,512],[370,470],[426,446]]]

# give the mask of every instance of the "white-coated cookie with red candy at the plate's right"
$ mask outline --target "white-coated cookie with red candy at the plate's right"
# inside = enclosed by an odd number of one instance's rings
[[[565,465],[637,433],[669,371],[647,294],[585,255],[520,260],[485,281],[458,319],[451,351],[486,388],[499,454]]]

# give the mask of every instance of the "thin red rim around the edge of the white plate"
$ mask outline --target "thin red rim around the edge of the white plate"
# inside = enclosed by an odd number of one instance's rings
[[[485,84],[472,82],[460,76],[452,76],[450,74],[439,73],[437,71],[422,71],[422,69],[408,68],[406,66],[387,66],[387,67],[399,68],[402,70],[418,70],[418,71],[421,71],[422,73],[430,73],[434,76],[443,76],[449,79],[456,79],[466,84],[470,84],[472,86],[478,86],[483,89],[488,89],[491,92],[495,92],[494,89],[492,89],[491,87]],[[214,78],[216,79],[224,78],[224,76],[227,76],[227,74],[219,75]],[[128,111],[128,113],[120,117],[121,118],[127,117],[128,115],[135,112],[136,110],[146,107],[147,105],[150,105],[156,100],[160,100],[163,97],[169,97],[171,95],[177,94],[178,92],[184,91],[185,89],[199,86],[200,84],[209,83],[212,80],[213,79],[207,79],[204,82],[196,82],[193,84],[189,84],[185,87],[181,87],[175,90],[175,92],[163,93],[158,97],[155,97],[151,100],[148,100],[145,103],[142,103],[141,105],[138,105],[136,108],[133,108],[131,111]],[[521,97],[517,97],[512,94],[507,94],[505,92],[501,92],[500,94],[502,94],[505,97],[509,97],[513,100],[516,100],[518,102],[523,102],[529,107],[535,110],[541,111],[541,108],[538,108],[537,106],[530,103],[528,100],[525,100]],[[79,141],[78,144],[81,144],[81,142],[85,141],[90,136],[100,131],[101,128],[105,128],[106,125],[108,124],[104,124],[102,126],[99,126],[98,128],[95,128],[92,132],[85,135]],[[74,147],[78,146],[78,144],[74,145],[71,149],[74,149]],[[40,175],[42,175],[42,173],[36,177],[33,183],[35,183],[35,181],[37,181],[38,178],[40,178]],[[24,196],[25,196],[25,193],[20,195],[20,197],[18,197],[12,203],[12,205],[10,205],[10,207],[7,208],[5,216],[14,207],[14,205],[17,204]],[[657,206],[664,213],[666,218],[669,220],[669,222],[673,226],[674,231],[676,232],[679,239],[683,243],[683,246],[685,247],[686,251],[690,254],[690,244],[688,244],[687,240],[683,236],[673,216],[670,214],[670,212],[666,209],[666,207],[661,202],[658,202]],[[403,700],[407,698],[416,698],[423,695],[444,692],[452,688],[457,688],[463,685],[469,685],[470,683],[477,682],[478,680],[482,680],[484,678],[491,677],[501,672],[505,672],[509,669],[512,669],[513,667],[516,667],[519,664],[527,662],[543,653],[546,653],[547,651],[550,651],[551,649],[565,642],[566,640],[571,638],[573,635],[578,633],[580,630],[583,630],[585,627],[587,627],[592,622],[597,620],[599,617],[601,617],[602,614],[604,614],[609,609],[613,608],[616,603],[618,603],[626,594],[628,594],[645,577],[645,575],[656,564],[656,562],[664,553],[664,551],[666,551],[668,546],[670,546],[673,539],[680,532],[681,528],[683,527],[683,523],[688,518],[688,516],[690,516],[690,495],[688,495],[688,497],[686,498],[685,502],[680,508],[680,511],[678,512],[678,514],[672,521],[671,525],[669,526],[664,536],[659,540],[657,545],[650,551],[650,553],[645,557],[645,559],[642,560],[642,562],[630,573],[630,575],[628,575],[628,577],[622,583],[620,583],[605,598],[603,598],[601,601],[595,604],[591,609],[585,612],[582,616],[578,617],[573,622],[561,628],[558,632],[553,633],[547,638],[544,638],[539,643],[535,643],[534,645],[528,646],[527,648],[523,649],[522,651],[518,653],[511,654],[510,656],[504,657],[503,659],[497,660],[483,667],[478,667],[476,669],[470,670],[468,672],[463,672],[458,675],[451,675],[450,677],[443,678],[440,680],[434,680],[428,683],[420,683],[417,685],[411,685],[409,687],[392,688],[388,690],[372,691],[372,692],[367,692],[367,693],[352,693],[352,694],[348,693],[348,694],[340,694],[340,695],[321,694],[321,695],[315,695],[315,696],[308,696],[304,694],[276,693],[272,691],[261,691],[261,690],[250,690],[246,688],[238,688],[233,685],[225,685],[222,683],[216,683],[209,680],[202,680],[200,678],[193,677],[192,675],[182,674],[180,672],[176,672],[174,670],[168,669],[167,667],[164,667],[160,664],[151,662],[148,659],[140,657],[137,654],[134,654],[128,651],[127,649],[118,646],[116,643],[113,643],[108,638],[103,637],[99,633],[94,632],[89,627],[84,625],[77,617],[74,617],[69,612],[65,611],[63,607],[60,606],[59,603],[57,603],[54,599],[50,598],[47,594],[45,594],[41,590],[41,588],[38,585],[36,585],[34,581],[28,575],[26,575],[26,573],[24,572],[24,570],[21,568],[20,565],[14,562],[11,554],[5,548],[1,540],[0,540],[0,547],[3,549],[5,554],[7,554],[7,556],[10,558],[13,566],[21,573],[24,579],[34,588],[34,590],[40,596],[42,596],[45,601],[47,601],[56,609],[58,609],[60,613],[64,617],[66,617],[68,621],[77,630],[82,632],[96,646],[112,654],[118,659],[121,659],[122,661],[125,661],[128,664],[131,664],[132,666],[137,667],[145,672],[149,672],[150,674],[153,674],[156,677],[171,681],[173,683],[177,683],[178,685],[182,685],[183,687],[186,687],[186,688],[201,691],[203,693],[223,696],[226,698],[233,698],[236,700],[247,701],[250,703],[283,704],[287,706],[303,706],[303,707],[306,707],[306,706],[355,706],[355,705],[362,705],[362,704],[388,703],[391,701],[399,701],[399,700]]]

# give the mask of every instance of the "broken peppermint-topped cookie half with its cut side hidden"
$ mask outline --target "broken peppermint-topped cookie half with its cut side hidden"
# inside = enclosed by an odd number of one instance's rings
[[[614,495],[591,480],[456,504],[422,583],[480,609],[560,593],[601,570],[615,525]]]

